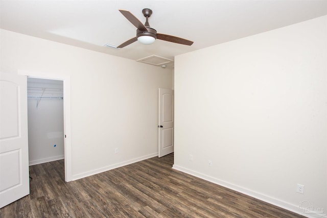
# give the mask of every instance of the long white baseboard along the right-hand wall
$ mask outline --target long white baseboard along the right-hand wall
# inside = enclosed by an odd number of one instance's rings
[[[259,192],[255,192],[255,191],[240,187],[238,185],[231,184],[229,182],[222,181],[222,180],[219,180],[217,178],[207,176],[207,175],[204,175],[204,174],[199,173],[199,172],[192,171],[191,169],[184,168],[184,167],[178,166],[176,164],[173,165],[173,169],[176,169],[177,171],[181,171],[181,172],[186,173],[186,174],[190,174],[190,175],[198,177],[200,179],[204,179],[206,181],[215,183],[217,185],[221,185],[221,186],[224,186],[226,188],[241,192],[241,193],[243,193],[243,194],[245,194],[247,196],[251,196],[253,198],[259,199],[259,200],[264,201],[264,202],[267,202],[269,204],[273,204],[275,206],[278,206],[278,207],[284,208],[286,210],[292,211],[294,213],[298,213],[298,214],[301,214],[301,215],[307,216],[307,217],[313,217],[310,214],[303,213],[303,210],[301,208],[299,208],[298,205],[289,204],[287,202],[284,202],[284,201],[281,201],[281,200],[278,200],[278,199],[263,195],[263,194],[261,194]],[[321,217],[327,217],[327,216],[321,216]]]

